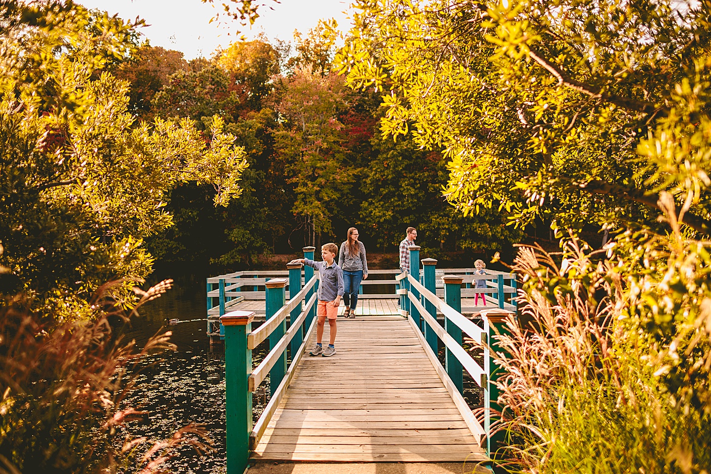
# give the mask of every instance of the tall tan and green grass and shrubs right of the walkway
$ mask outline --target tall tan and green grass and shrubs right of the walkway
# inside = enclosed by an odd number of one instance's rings
[[[667,235],[520,247],[523,312],[495,336],[502,467],[711,472],[711,242],[686,237],[660,201]]]

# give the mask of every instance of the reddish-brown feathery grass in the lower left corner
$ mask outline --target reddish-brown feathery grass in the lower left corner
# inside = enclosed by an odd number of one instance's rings
[[[0,267],[1,269],[1,267]],[[201,426],[167,439],[133,436],[128,421],[145,411],[129,406],[137,364],[145,355],[175,349],[170,331],[143,348],[113,325],[137,316],[107,296],[117,281],[90,301],[91,319],[43,321],[21,298],[0,306],[0,474],[164,472],[183,446],[208,448]],[[139,294],[139,305],[171,286],[166,280]]]

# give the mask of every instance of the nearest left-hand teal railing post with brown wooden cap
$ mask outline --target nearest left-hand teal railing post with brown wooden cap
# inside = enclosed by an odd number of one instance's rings
[[[250,458],[252,392],[247,378],[252,373],[252,311],[232,311],[220,318],[225,328],[225,409],[227,414],[227,474],[242,474]]]

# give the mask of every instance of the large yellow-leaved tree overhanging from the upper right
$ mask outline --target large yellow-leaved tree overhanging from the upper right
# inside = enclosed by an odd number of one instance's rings
[[[556,13],[558,4],[362,4],[340,59],[352,85],[387,91],[387,134],[411,129],[418,144],[444,147],[447,196],[464,212],[504,203],[521,225],[653,224],[659,193],[675,184],[658,176],[648,131],[686,94],[668,84],[697,69],[699,43],[672,53],[665,39],[694,37],[677,19],[691,10],[636,15],[614,4],[594,18],[577,4]],[[655,26],[624,40],[644,22]],[[638,161],[640,146],[650,158]],[[687,222],[705,230],[705,218],[690,210]]]

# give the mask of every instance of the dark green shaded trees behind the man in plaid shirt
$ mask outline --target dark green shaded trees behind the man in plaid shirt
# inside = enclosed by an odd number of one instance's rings
[[[418,149],[412,139],[393,141],[380,134],[371,143],[375,156],[359,173],[360,225],[361,233],[383,251],[394,248],[410,225],[419,232],[417,244],[437,258],[461,250],[493,255],[523,239],[523,232],[506,226],[501,212],[486,210],[474,219],[442,198],[449,173],[437,151]]]

